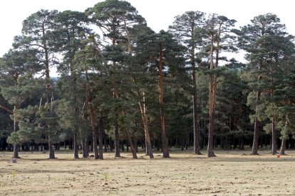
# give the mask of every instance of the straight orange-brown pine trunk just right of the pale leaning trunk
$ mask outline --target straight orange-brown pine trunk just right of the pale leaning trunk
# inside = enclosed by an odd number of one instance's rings
[[[163,158],[170,158],[169,149],[168,149],[168,141],[167,141],[167,134],[165,131],[165,117],[163,111],[163,78],[162,78],[162,44],[160,44],[160,66],[159,66],[159,89],[160,89],[160,113],[161,113],[161,134],[162,134],[162,153]]]

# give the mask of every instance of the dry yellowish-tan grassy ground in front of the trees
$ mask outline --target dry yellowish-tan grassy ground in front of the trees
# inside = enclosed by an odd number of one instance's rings
[[[0,152],[0,195],[295,195],[295,151],[272,156],[270,151],[214,151],[217,157],[191,151],[160,153],[150,160],[121,153],[105,160],[73,160],[73,151]],[[80,155],[81,156],[81,155]]]

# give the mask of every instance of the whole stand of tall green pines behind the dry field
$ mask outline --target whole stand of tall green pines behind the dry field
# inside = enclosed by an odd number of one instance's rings
[[[284,154],[295,147],[294,36],[273,13],[235,23],[187,11],[157,33],[119,0],[32,13],[0,58],[0,150]]]

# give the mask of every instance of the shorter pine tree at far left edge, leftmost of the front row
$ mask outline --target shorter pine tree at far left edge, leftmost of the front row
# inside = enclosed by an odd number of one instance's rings
[[[30,86],[33,85],[31,73],[36,69],[36,57],[30,50],[9,50],[9,53],[4,55],[1,70],[6,76],[1,80],[1,94],[14,106],[14,111],[9,110],[12,114],[33,95],[33,90],[36,90]],[[14,116],[14,134],[18,129],[18,121]],[[14,142],[14,158],[19,158],[18,144],[19,141]]]

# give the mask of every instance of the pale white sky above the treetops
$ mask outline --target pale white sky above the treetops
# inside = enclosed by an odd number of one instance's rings
[[[100,0],[0,0],[0,56],[4,55],[16,35],[21,34],[21,23],[31,13],[40,9],[58,11],[84,11]],[[185,11],[218,13],[238,21],[237,27],[250,23],[254,16],[275,13],[285,23],[290,34],[295,35],[295,11],[289,0],[128,0],[148,26],[158,32],[167,30],[174,17]]]

